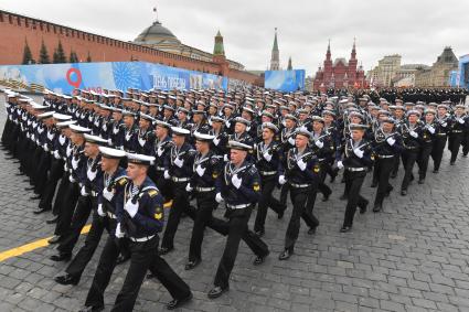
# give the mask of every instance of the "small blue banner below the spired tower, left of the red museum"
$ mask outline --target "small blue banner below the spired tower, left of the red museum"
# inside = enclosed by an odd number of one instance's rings
[[[305,74],[305,69],[266,71],[264,86],[280,92],[303,90]]]

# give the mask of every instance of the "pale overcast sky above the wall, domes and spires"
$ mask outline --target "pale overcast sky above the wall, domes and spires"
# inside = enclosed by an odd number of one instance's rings
[[[365,71],[384,55],[431,65],[446,45],[469,53],[467,0],[0,0],[0,8],[79,30],[131,41],[156,19],[184,44],[225,53],[247,69],[266,69],[278,28],[280,66],[316,73],[331,40],[332,58],[350,58],[356,37]]]

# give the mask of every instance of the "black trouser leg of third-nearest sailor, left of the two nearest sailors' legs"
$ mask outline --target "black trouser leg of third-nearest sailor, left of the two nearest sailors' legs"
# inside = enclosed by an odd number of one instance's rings
[[[86,265],[88,265],[89,260],[92,260],[92,257],[99,245],[99,240],[103,236],[104,229],[107,226],[107,223],[108,218],[99,216],[97,213],[97,207],[94,207],[92,227],[89,228],[89,233],[86,236],[85,245],[79,248],[78,254],[76,254],[72,262],[65,269],[68,275],[78,279],[82,277]]]

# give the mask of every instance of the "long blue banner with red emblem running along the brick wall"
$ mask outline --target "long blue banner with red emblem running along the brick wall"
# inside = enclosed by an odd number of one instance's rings
[[[71,94],[73,89],[227,89],[223,76],[145,62],[2,65],[0,84]]]

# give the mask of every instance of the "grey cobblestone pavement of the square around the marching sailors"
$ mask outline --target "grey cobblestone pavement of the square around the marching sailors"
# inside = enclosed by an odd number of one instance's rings
[[[1,129],[3,122],[4,114]],[[3,152],[0,172],[0,252],[51,236],[53,226],[45,224],[50,215],[32,213],[39,202],[29,200],[24,179],[15,175],[18,164],[6,160]],[[194,293],[181,311],[469,311],[469,160],[459,158],[450,166],[446,154],[440,173],[428,175],[425,185],[413,183],[406,197],[392,193],[383,213],[358,214],[349,234],[339,233],[345,202],[339,200],[343,184],[338,179],[329,202],[318,196],[317,234],[308,236],[302,224],[296,255],[288,261],[277,256],[289,211],[281,220],[269,212],[265,241],[270,256],[254,267],[254,256],[242,243],[231,290],[216,300],[209,300],[206,292],[225,239],[207,229],[203,262],[184,271],[192,222],[183,219],[175,250],[166,256]],[[401,179],[392,180],[397,190]],[[372,200],[375,189],[370,184],[369,174],[363,194]],[[77,248],[82,243],[83,237]],[[39,248],[0,263],[0,311],[76,311],[84,303],[100,250],[77,287],[53,281],[65,266],[49,260],[53,254],[52,247]],[[118,267],[113,276],[107,309],[126,268]],[[136,311],[163,311],[170,300],[158,282],[147,280]]]

